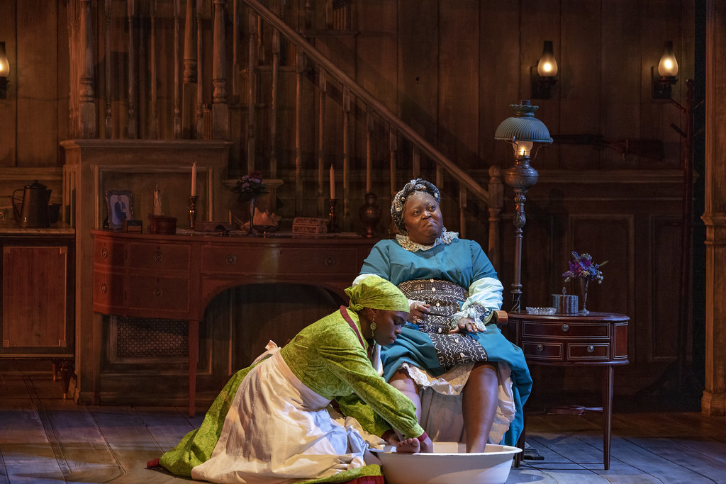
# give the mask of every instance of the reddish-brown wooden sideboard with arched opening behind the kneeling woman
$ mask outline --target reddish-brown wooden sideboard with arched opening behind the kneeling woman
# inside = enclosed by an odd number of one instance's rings
[[[345,298],[374,239],[221,237],[92,231],[93,308],[102,314],[189,321],[189,415],[195,414],[199,321],[223,290],[310,284]]]

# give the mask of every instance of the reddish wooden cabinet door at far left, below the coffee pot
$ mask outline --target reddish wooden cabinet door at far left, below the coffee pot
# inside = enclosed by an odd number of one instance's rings
[[[3,353],[67,352],[68,247],[3,247]]]

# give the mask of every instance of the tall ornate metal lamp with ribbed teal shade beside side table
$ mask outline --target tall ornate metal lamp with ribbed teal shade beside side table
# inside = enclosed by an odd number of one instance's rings
[[[522,229],[526,223],[524,214],[525,194],[529,187],[537,184],[539,173],[529,165],[532,147],[535,143],[552,143],[550,131],[542,121],[534,117],[539,106],[531,106],[529,99],[519,104],[510,104],[514,116],[502,121],[494,139],[501,139],[510,143],[514,150],[514,165],[505,169],[505,183],[514,189],[514,202],[516,211],[514,215],[515,226],[515,253],[514,253],[514,282],[512,283],[512,311],[521,309],[522,296]],[[537,147],[539,149],[539,146]],[[535,151],[535,155],[537,152]]]

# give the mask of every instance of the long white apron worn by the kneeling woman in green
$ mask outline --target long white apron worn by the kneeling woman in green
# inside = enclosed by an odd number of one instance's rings
[[[285,483],[378,464],[383,443],[290,372],[280,350],[250,370],[234,395],[211,458],[192,478],[213,483]],[[365,462],[365,459],[370,462]]]

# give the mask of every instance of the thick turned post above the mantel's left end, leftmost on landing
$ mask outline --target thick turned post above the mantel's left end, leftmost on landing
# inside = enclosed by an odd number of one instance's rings
[[[81,0],[81,39],[83,45],[83,70],[80,78],[79,126],[81,138],[96,137],[96,103],[94,102],[94,59],[91,0]]]

